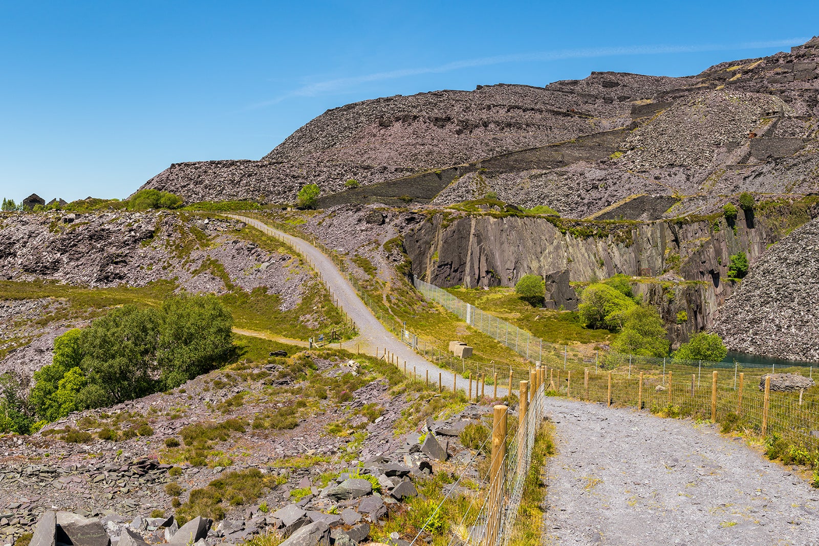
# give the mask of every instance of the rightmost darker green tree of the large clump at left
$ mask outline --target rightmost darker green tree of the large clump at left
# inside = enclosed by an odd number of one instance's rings
[[[166,300],[157,359],[165,389],[210,372],[233,356],[233,317],[215,296]]]

